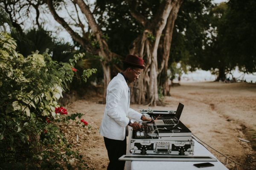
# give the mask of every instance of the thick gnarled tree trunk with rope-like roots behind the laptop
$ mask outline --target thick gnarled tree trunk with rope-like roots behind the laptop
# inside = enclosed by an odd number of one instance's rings
[[[147,23],[147,20],[140,13],[136,12],[136,5],[133,4],[131,6],[131,15],[144,26],[144,31],[142,35],[134,40],[130,53],[139,55],[145,61],[145,68],[140,80],[134,83],[134,86],[131,88],[131,102],[147,103],[148,105],[157,105],[159,102],[157,76],[163,71],[164,65],[167,68],[169,51],[165,58],[163,58],[163,55],[157,54],[157,51],[167,19],[170,18],[169,23],[174,23],[181,2],[182,0],[164,1],[158,9],[159,14],[156,14],[155,20],[152,23]],[[136,3],[136,1],[133,1],[133,3]],[[173,11],[172,14],[171,11]],[[170,15],[175,16],[175,14],[176,17],[169,17]],[[171,28],[173,29],[173,26]],[[170,36],[166,38],[166,42],[169,42],[167,46],[170,46],[172,40],[171,28],[169,28],[168,33],[166,28],[166,34]],[[153,35],[154,40],[149,40],[148,35],[151,35],[150,37]],[[163,43],[163,48],[166,48],[166,42]],[[158,68],[159,60],[162,62]],[[164,71],[167,71],[167,69]]]

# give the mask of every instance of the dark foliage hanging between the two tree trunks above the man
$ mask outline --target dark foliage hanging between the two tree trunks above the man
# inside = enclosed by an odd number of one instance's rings
[[[126,56],[131,42],[141,32],[140,25],[131,17],[128,2],[96,0],[96,7],[99,8],[95,11],[99,26],[106,28],[103,33],[108,35],[108,47],[112,52]]]

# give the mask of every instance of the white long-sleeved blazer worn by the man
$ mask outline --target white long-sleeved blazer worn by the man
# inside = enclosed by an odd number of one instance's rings
[[[106,107],[99,133],[109,139],[124,140],[129,118],[139,122],[142,114],[130,108],[130,90],[122,74],[108,84]]]

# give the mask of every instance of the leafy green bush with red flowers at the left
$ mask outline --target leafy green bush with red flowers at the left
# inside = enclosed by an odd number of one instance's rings
[[[25,58],[15,48],[12,37],[0,33],[0,167],[87,168],[58,127],[70,120],[80,125],[83,114],[66,115],[64,108],[58,110],[57,102],[73,79],[72,68],[84,54],[65,63],[53,61],[48,54]],[[83,77],[95,72],[87,69]]]

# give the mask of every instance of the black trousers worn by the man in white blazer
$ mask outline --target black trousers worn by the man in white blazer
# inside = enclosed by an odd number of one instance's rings
[[[125,161],[119,161],[118,159],[126,154],[126,137],[123,141],[104,137],[104,142],[108,150],[109,159],[107,170],[124,170]]]

